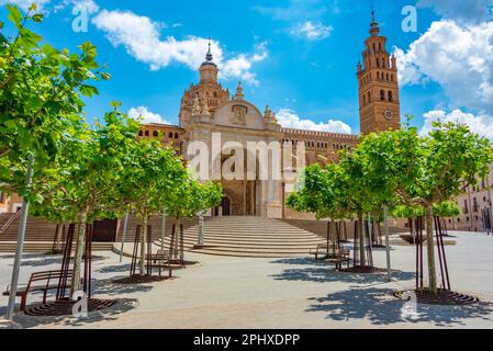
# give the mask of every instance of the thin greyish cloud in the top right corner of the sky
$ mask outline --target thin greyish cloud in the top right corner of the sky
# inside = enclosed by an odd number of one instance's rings
[[[419,0],[418,8],[433,8],[444,16],[462,23],[478,23],[491,18],[493,0]]]

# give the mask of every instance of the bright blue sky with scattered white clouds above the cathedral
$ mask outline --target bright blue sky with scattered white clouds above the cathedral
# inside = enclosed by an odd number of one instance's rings
[[[0,21],[7,3],[30,2],[0,0]],[[356,67],[374,5],[397,58],[402,120],[414,115],[422,133],[433,121],[460,121],[493,140],[493,0],[36,3],[45,21],[33,30],[45,42],[76,52],[89,41],[112,75],[87,101],[89,121],[120,101],[146,122],[177,124],[210,36],[221,83],[234,92],[242,81],[246,99],[261,111],[269,105],[281,125],[358,134]],[[2,32],[14,33],[8,23]]]

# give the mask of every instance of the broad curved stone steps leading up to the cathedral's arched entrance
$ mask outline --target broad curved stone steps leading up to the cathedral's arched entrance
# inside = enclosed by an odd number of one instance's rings
[[[204,246],[195,247],[199,226],[184,230],[184,250],[189,252],[277,258],[306,254],[324,244],[320,236],[278,219],[247,216],[215,217],[205,222]],[[155,238],[155,236],[153,236]],[[154,241],[160,247],[160,239]],[[165,239],[169,248],[169,234]]]

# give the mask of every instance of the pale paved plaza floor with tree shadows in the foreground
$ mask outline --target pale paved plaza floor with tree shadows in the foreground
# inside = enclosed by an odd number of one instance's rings
[[[447,246],[452,290],[480,297],[474,306],[418,305],[403,319],[404,303],[394,290],[414,286],[414,248],[394,246],[395,282],[383,275],[338,273],[312,258],[249,259],[187,253],[200,264],[175,272],[176,279],[145,285],[113,283],[125,276],[130,259],[114,253],[93,262],[97,297],[117,299],[86,319],[27,317],[24,328],[493,328],[493,237],[455,233]],[[57,269],[59,257],[27,254],[21,282],[31,272]],[[385,267],[385,252],[374,253]],[[10,282],[13,254],[0,257],[0,285]],[[40,296],[30,296],[30,302]],[[1,314],[7,298],[0,299]]]

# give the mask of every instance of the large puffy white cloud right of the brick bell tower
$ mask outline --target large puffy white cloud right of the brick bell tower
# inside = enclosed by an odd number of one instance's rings
[[[444,88],[451,109],[493,114],[493,22],[434,22],[406,53],[395,54],[403,84],[430,79]]]

